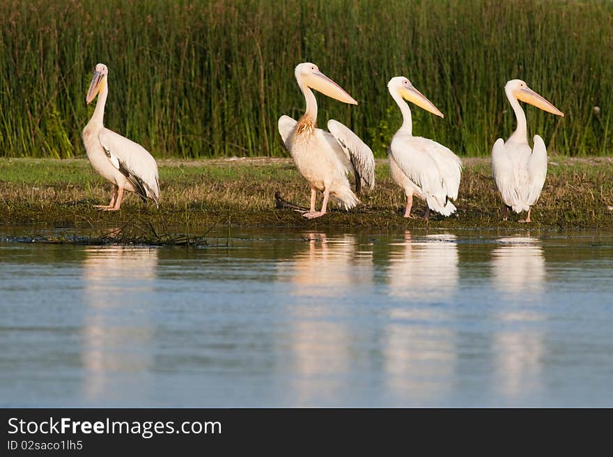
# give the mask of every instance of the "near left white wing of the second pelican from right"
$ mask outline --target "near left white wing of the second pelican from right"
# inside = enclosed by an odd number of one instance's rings
[[[447,201],[442,173],[421,137],[394,137],[389,153],[405,175],[426,194],[428,207],[449,216],[456,208]]]

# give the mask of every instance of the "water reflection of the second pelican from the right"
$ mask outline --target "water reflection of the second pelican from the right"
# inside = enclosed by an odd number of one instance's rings
[[[389,295],[407,302],[389,310],[385,329],[385,375],[392,398],[431,404],[453,386],[456,334],[444,325],[447,307],[429,303],[450,300],[458,287],[458,246],[451,234],[412,240],[405,233],[402,249],[391,253]]]

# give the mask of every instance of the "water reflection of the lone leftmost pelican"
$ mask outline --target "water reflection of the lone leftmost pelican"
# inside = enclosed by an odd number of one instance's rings
[[[151,364],[148,295],[154,292],[157,249],[88,247],[84,261],[88,304],[83,339],[84,392],[89,401],[113,398],[127,383],[130,401],[146,396],[142,375]]]

